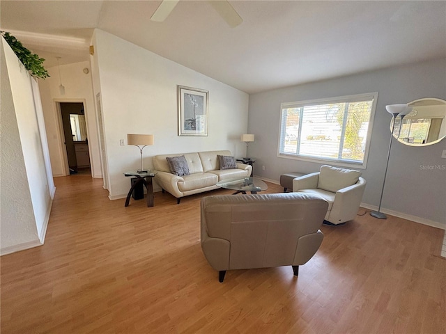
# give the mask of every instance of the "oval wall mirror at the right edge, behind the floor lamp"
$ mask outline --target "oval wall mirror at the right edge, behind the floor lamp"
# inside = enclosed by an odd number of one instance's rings
[[[408,103],[412,111],[392,119],[390,131],[400,143],[425,146],[446,138],[446,101],[436,98],[419,99]]]

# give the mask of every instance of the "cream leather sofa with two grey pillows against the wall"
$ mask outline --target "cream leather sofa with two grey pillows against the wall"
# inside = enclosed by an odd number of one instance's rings
[[[190,175],[177,176],[170,173],[167,157],[184,155]],[[232,178],[249,177],[252,166],[236,164],[237,168],[220,170],[217,155],[232,156],[230,151],[207,151],[178,154],[162,154],[153,157],[153,167],[157,171],[155,182],[163,191],[171,193],[177,198],[178,204],[184,196],[218,189],[217,182]]]

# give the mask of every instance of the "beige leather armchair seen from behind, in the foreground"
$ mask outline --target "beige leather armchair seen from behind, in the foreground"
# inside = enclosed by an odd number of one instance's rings
[[[220,282],[232,269],[291,265],[297,276],[321,246],[327,209],[306,193],[208,196],[201,199],[201,248]]]

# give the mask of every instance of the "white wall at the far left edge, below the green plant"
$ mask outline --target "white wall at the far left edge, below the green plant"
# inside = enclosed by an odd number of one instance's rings
[[[54,184],[36,84],[1,38],[1,254],[43,244]],[[47,152],[46,152],[47,153]]]

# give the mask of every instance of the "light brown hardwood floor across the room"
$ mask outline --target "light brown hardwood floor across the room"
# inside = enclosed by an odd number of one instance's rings
[[[219,283],[199,201],[229,191],[124,207],[89,175],[55,182],[45,245],[0,259],[1,333],[446,333],[443,230],[367,213],[322,226],[297,278],[279,267]]]

